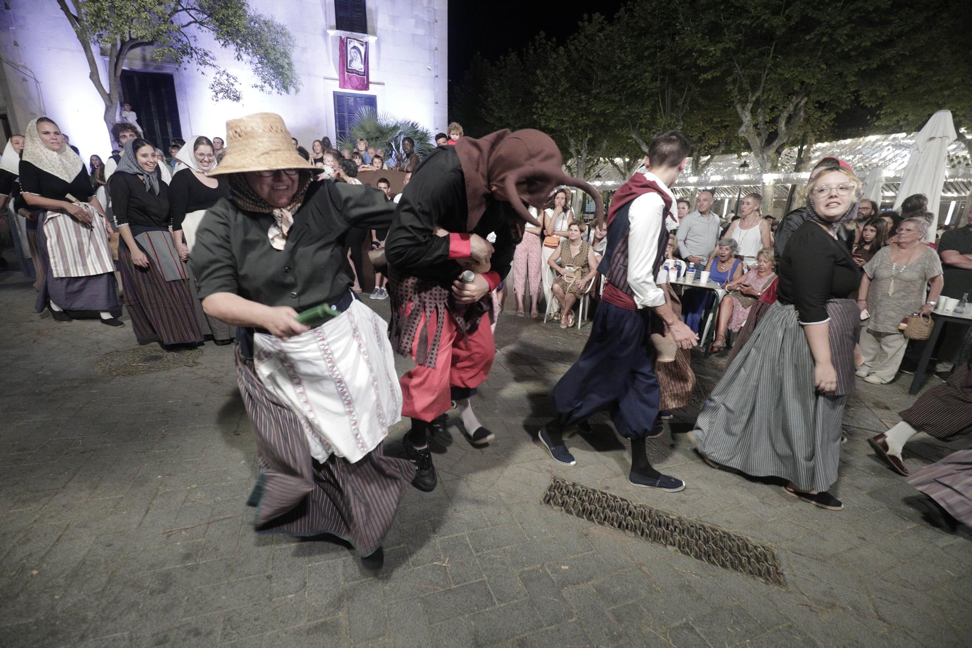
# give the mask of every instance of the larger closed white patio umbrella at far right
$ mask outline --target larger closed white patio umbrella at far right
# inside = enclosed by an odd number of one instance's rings
[[[928,228],[928,240],[935,240],[945,168],[949,161],[949,145],[955,138],[952,111],[940,110],[932,115],[915,135],[911,157],[901,174],[898,197],[894,199],[894,209],[900,209],[904,199],[913,194],[924,194],[928,197],[928,211],[935,215],[931,227]]]

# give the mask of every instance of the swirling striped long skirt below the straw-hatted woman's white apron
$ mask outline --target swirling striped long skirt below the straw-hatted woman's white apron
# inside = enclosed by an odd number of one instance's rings
[[[302,417],[257,378],[253,360],[236,350],[236,382],[257,435],[260,479],[250,496],[262,533],[337,536],[362,556],[381,546],[415,469],[385,456],[382,444],[355,463],[310,454]]]

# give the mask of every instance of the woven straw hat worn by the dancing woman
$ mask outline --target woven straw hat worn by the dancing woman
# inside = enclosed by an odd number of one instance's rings
[[[226,122],[226,155],[207,175],[278,168],[321,170],[294,150],[291,131],[280,115],[254,113]]]

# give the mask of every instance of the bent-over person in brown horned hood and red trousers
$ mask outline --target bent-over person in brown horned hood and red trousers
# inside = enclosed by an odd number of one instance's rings
[[[435,487],[426,439],[430,429],[444,429],[451,401],[471,444],[494,438],[472,414],[469,397],[496,355],[490,327],[480,325],[492,311],[489,293],[509,271],[523,222],[538,225],[528,205],[542,206],[554,187],[566,184],[590,194],[603,217],[600,194],[562,167],[548,135],[500,130],[435,149],[401,195],[385,255],[392,344],[416,362],[401,388],[402,414],[412,418],[405,449],[419,489]],[[464,270],[472,272],[469,283],[460,279]]]

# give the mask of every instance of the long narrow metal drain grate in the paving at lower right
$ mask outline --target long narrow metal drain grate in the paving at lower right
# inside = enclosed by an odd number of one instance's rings
[[[554,479],[543,503],[577,518],[632,533],[677,552],[786,586],[772,547],[726,529],[635,504],[603,490]]]

